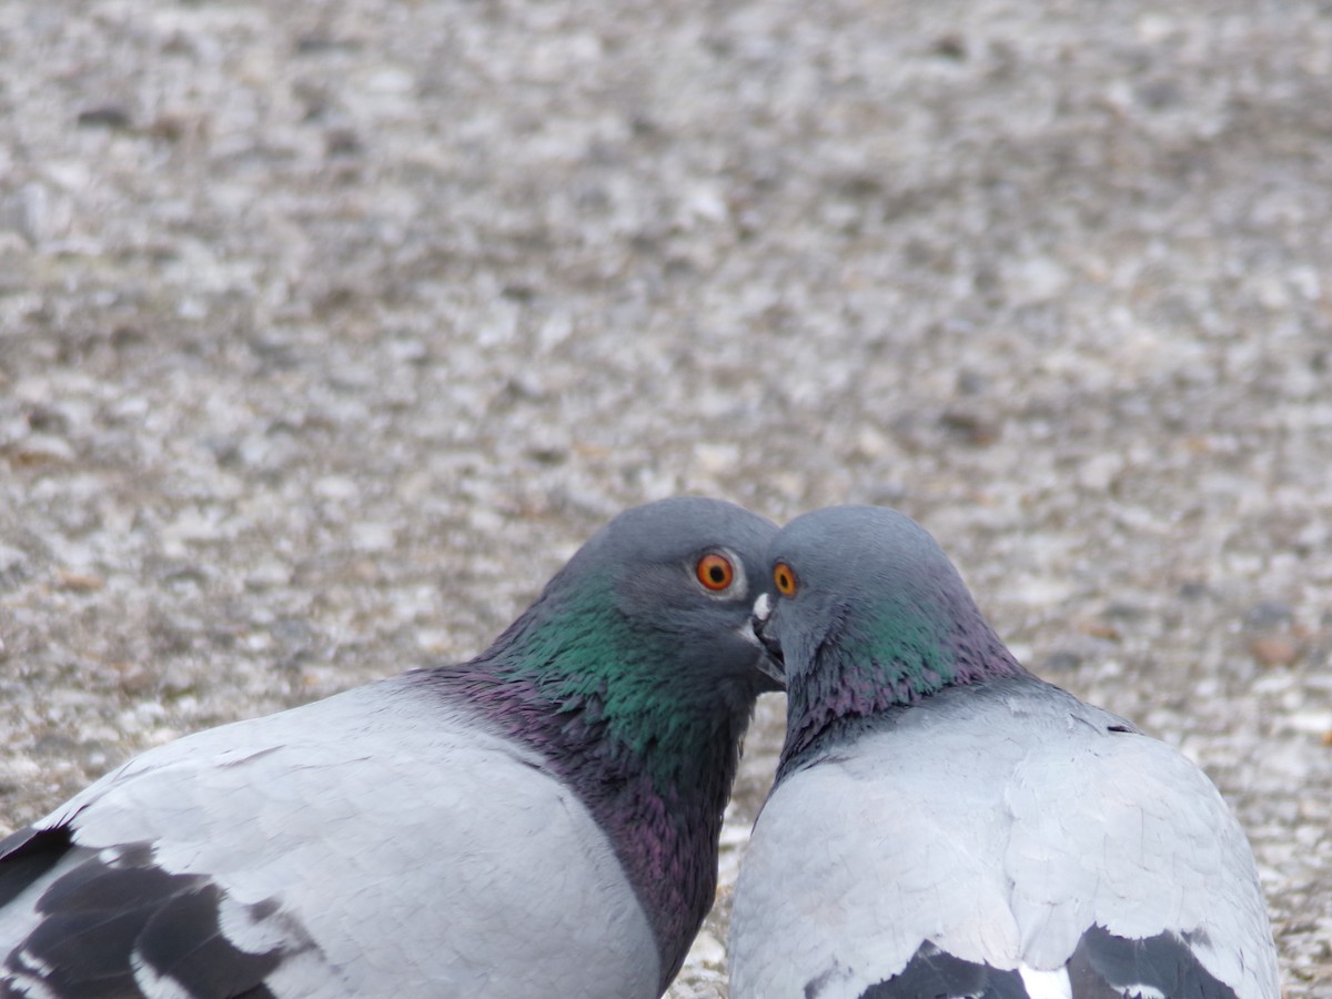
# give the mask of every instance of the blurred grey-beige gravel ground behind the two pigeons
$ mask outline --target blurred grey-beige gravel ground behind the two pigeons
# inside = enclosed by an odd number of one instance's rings
[[[0,1],[0,831],[631,503],[882,502],[1332,996],[1329,218],[1327,3]]]

